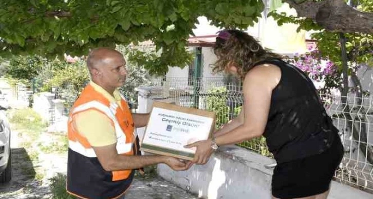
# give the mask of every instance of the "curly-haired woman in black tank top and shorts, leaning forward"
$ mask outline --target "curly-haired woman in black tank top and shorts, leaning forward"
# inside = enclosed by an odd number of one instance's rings
[[[218,146],[264,135],[277,161],[273,198],[326,198],[343,146],[311,80],[243,31],[219,32],[214,53],[215,71],[243,80],[244,105],[214,138],[185,146],[197,148],[193,161],[206,164]]]

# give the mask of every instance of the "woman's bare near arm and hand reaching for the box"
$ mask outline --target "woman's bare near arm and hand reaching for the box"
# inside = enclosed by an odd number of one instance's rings
[[[264,64],[251,69],[244,81],[244,122],[233,130],[215,138],[219,146],[239,143],[258,137],[264,133],[267,125],[273,88],[281,79],[281,70],[274,65]],[[206,164],[213,150],[211,139],[189,144],[197,147],[194,162]]]

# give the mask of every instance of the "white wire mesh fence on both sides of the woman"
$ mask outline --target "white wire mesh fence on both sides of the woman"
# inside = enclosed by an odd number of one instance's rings
[[[155,86],[152,95],[155,98],[168,98],[180,106],[214,111],[219,127],[236,117],[243,104],[241,84],[225,81],[224,78],[162,78],[154,79],[150,84],[143,86]],[[334,179],[373,192],[372,97],[358,98],[350,95],[342,98],[338,95],[321,94],[321,98],[328,114],[332,116],[334,125],[340,130],[345,148],[343,161]],[[272,157],[264,137],[238,145]]]

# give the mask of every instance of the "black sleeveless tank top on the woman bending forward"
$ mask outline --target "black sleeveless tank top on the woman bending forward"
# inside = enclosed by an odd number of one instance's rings
[[[312,81],[302,70],[282,60],[265,60],[281,69],[272,91],[264,132],[277,162],[320,154],[330,148],[338,129],[327,115]]]

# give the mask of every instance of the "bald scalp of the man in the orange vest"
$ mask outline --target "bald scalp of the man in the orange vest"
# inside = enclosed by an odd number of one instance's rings
[[[123,57],[120,52],[110,48],[95,48],[91,50],[88,54],[87,58],[87,66],[89,73],[92,73],[92,69],[99,69],[102,66],[106,66],[110,64],[110,61],[118,58]]]

